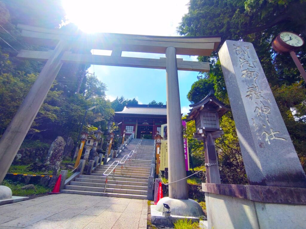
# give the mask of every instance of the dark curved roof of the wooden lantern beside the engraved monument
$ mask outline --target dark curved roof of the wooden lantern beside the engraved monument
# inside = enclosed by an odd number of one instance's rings
[[[230,111],[230,107],[226,106],[220,100],[218,100],[214,95],[214,90],[210,90],[207,96],[202,99],[200,102],[195,104],[190,104],[189,107],[192,107],[188,113],[186,122],[194,119],[196,114],[200,111],[216,111],[218,112],[218,117],[221,118],[227,111]]]

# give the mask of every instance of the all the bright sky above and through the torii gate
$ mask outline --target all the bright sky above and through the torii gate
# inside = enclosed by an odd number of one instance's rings
[[[85,4],[84,4],[85,3]],[[188,12],[188,0],[100,1],[62,0],[67,22],[75,23],[88,33],[110,32],[140,35],[178,36],[176,27]],[[95,55],[110,55],[110,51],[93,50]],[[163,54],[123,52],[122,56],[159,58]],[[180,56],[196,61],[196,56]],[[152,100],[166,104],[166,71],[160,69],[91,65],[88,69],[107,85],[107,98],[136,98],[141,104]],[[198,72],[178,71],[181,112],[188,112],[186,96]]]

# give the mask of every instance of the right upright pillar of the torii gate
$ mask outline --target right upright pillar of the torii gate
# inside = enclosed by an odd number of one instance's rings
[[[176,50],[166,49],[166,92],[168,128],[169,197],[188,199],[184,144],[182,136],[181,102],[178,87]]]

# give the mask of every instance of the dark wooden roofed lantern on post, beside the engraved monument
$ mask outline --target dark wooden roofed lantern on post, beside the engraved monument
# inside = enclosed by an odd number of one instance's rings
[[[230,108],[215,97],[214,90],[211,90],[200,102],[189,106],[192,109],[188,113],[186,122],[195,121],[196,133],[193,136],[197,140],[203,140],[205,145],[207,183],[220,184],[220,173],[214,139],[224,134],[219,126],[219,119]]]

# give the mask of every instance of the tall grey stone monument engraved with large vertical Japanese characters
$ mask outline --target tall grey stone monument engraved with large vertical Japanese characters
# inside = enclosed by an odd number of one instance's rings
[[[306,176],[251,43],[219,51],[248,182],[306,187]]]

